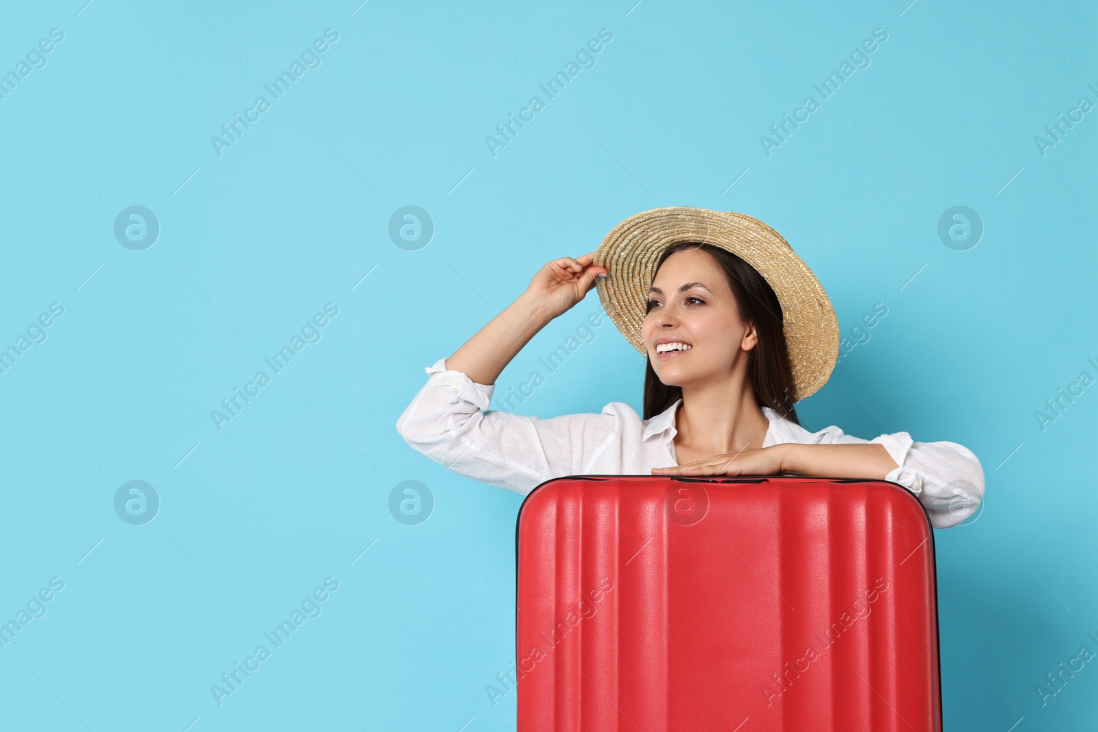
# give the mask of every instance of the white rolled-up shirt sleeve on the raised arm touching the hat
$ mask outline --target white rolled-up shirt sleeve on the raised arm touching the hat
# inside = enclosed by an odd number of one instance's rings
[[[593,448],[613,437],[601,415],[541,419],[489,410],[495,385],[447,369],[446,359],[424,371],[427,383],[396,431],[417,452],[479,483],[525,495],[551,477],[582,474]]]

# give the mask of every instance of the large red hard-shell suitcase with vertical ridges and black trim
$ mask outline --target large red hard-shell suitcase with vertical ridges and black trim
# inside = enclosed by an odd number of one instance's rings
[[[589,475],[515,532],[519,732],[938,732],[933,533],[887,481]]]

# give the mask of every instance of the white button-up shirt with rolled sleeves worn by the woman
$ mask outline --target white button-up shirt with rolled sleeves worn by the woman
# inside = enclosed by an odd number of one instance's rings
[[[396,431],[416,451],[459,475],[522,495],[565,475],[650,475],[653,468],[676,465],[673,438],[677,399],[650,419],[624,402],[601,414],[542,419],[488,410],[495,384],[478,384],[439,359],[424,369],[427,383],[396,420]],[[930,523],[944,529],[976,511],[984,497],[979,460],[955,442],[914,442],[907,432],[872,440],[844,435],[831,426],[818,432],[768,406],[763,447],[878,443],[898,468],[885,475],[915,494]],[[484,409],[485,412],[481,412]]]

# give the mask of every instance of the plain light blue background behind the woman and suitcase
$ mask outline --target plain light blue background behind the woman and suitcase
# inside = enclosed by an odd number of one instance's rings
[[[514,694],[484,687],[514,653],[522,496],[426,460],[396,418],[546,261],[692,205],[780,230],[844,335],[887,306],[798,405],[807,427],[983,462],[983,513],[935,532],[946,729],[1094,728],[1095,664],[1034,691],[1098,651],[1098,387],[1034,416],[1098,375],[1098,112],[1034,143],[1098,102],[1093,5],[83,2],[0,23],[0,71],[65,34],[0,100],[0,346],[65,308],[0,374],[0,620],[65,583],[0,649],[0,727],[514,729]],[[219,157],[210,137],[327,27],[321,67]],[[485,136],[603,27],[596,65],[493,156]],[[759,137],[878,27],[768,157]],[[113,235],[130,205],[160,222],[144,251]],[[435,222],[416,251],[388,234],[404,205]],[[986,227],[966,251],[937,234],[954,205]],[[210,412],[329,302],[320,342],[219,431]],[[540,333],[497,394],[597,308]],[[520,412],[640,409],[643,362],[595,333]],[[114,513],[131,480],[163,502],[144,526]],[[435,497],[418,526],[388,508],[405,480]],[[219,706],[211,685],[329,576],[322,615]]]

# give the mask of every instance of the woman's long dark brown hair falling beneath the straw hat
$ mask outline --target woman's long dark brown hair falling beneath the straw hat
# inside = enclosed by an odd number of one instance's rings
[[[660,255],[656,269],[659,270],[670,255],[675,251],[702,249],[707,251],[725,270],[728,286],[736,296],[736,309],[743,323],[754,323],[759,342],[748,351],[748,378],[754,392],[755,403],[771,409],[799,425],[793,406],[796,388],[789,352],[783,331],[782,305],[777,295],[759,271],[746,261],[720,247],[701,241],[680,241],[671,245]],[[645,360],[645,419],[660,414],[683,395],[682,386],[668,386],[652,370],[650,359]]]

